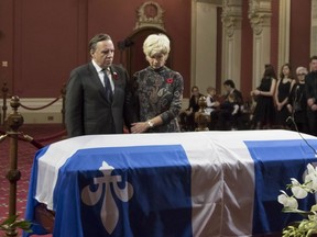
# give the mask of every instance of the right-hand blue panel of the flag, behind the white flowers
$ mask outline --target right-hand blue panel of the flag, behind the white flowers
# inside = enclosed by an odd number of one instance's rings
[[[309,143],[317,147],[316,140]],[[280,190],[286,189],[291,178],[303,180],[307,163],[316,162],[314,150],[302,139],[245,142],[245,144],[254,160],[253,233],[281,233],[283,227],[298,221],[300,216],[282,213],[283,205],[276,202],[281,194]],[[310,210],[315,196],[311,195],[304,202],[300,203],[304,205],[303,208]]]

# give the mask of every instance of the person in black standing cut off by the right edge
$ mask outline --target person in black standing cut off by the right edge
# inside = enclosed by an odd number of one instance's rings
[[[305,77],[309,134],[317,136],[317,56],[310,57],[310,72]]]

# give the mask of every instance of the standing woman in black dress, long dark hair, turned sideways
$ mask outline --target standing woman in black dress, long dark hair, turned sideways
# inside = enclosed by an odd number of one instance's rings
[[[252,128],[270,129],[275,121],[274,92],[276,87],[276,74],[272,65],[265,65],[260,86],[250,92],[255,98],[256,105],[252,116]]]

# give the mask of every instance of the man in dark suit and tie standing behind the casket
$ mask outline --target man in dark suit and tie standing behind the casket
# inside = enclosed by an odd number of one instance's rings
[[[133,121],[129,76],[112,65],[114,46],[107,34],[89,42],[91,61],[70,72],[66,88],[65,122],[69,137],[122,134]]]

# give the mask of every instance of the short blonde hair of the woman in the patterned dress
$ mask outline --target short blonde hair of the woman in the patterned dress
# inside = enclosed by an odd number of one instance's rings
[[[153,57],[155,54],[167,56],[170,50],[170,40],[164,34],[151,34],[143,43],[143,52],[146,57]]]

